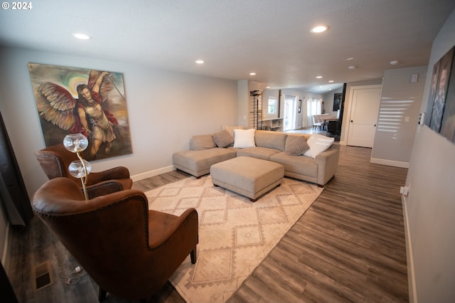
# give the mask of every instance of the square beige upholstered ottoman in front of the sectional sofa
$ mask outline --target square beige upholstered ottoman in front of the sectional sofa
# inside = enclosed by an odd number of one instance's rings
[[[284,167],[272,161],[237,156],[210,167],[213,185],[240,193],[255,202],[283,180]]]

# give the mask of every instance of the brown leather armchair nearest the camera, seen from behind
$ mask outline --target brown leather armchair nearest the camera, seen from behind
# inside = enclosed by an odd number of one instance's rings
[[[33,210],[100,287],[124,299],[146,299],[158,291],[191,255],[196,263],[198,213],[181,216],[149,211],[135,189],[85,201],[67,178],[36,191]]]

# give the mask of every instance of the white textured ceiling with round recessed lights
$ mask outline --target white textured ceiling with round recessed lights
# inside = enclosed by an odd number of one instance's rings
[[[28,11],[0,10],[2,46],[315,92],[328,80],[378,79],[386,69],[427,65],[432,41],[455,8],[454,0],[31,3]],[[310,33],[319,23],[330,30]],[[92,39],[78,41],[75,32]],[[198,58],[205,64],[196,65]]]

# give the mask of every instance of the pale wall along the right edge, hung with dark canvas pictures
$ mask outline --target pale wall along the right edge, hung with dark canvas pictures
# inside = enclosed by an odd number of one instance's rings
[[[434,63],[454,45],[455,10],[433,41],[421,111],[427,109]],[[410,193],[404,204],[407,242],[410,244],[408,270],[411,302],[454,302],[454,180],[454,142],[449,142],[427,126],[417,128],[406,181],[410,185]]]

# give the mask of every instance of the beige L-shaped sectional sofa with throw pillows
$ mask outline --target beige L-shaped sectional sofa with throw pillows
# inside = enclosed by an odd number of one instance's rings
[[[235,129],[232,136],[223,130],[193,136],[189,150],[173,154],[173,165],[198,178],[209,174],[213,164],[236,156],[282,164],[284,176],[324,186],[338,168],[339,145],[319,134]]]

